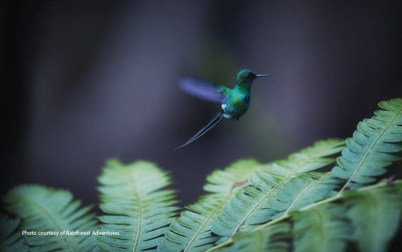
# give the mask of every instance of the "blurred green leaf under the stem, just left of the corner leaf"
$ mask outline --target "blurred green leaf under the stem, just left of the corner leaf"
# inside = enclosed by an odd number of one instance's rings
[[[297,212],[292,220],[294,251],[344,251],[352,236],[346,208],[327,203]]]

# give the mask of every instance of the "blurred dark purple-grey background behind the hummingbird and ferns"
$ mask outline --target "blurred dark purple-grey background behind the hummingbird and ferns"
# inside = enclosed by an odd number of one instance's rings
[[[38,183],[96,203],[96,177],[119,157],[170,171],[183,206],[203,193],[211,171],[346,138],[379,101],[402,95],[396,2],[0,5],[2,195]],[[249,111],[174,150],[220,110],[181,93],[177,77],[233,87],[242,68],[271,74],[254,82]]]

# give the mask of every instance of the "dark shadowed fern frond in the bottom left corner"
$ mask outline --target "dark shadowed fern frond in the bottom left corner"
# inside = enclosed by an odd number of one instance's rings
[[[28,246],[18,230],[19,218],[0,215],[0,251],[28,251]]]

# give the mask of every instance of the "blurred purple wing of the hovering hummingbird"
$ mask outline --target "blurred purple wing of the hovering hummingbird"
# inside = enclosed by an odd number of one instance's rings
[[[180,77],[179,87],[182,91],[200,99],[216,103],[226,103],[226,98],[223,94],[223,90],[226,87],[219,86],[211,81],[195,77]]]

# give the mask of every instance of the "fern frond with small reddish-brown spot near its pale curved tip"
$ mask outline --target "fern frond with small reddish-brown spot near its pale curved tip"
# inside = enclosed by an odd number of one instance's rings
[[[159,250],[203,251],[219,238],[211,232],[211,223],[221,214],[223,205],[242,187],[248,185],[255,171],[266,167],[254,159],[237,161],[225,170],[216,170],[207,177],[204,190],[211,194],[200,197],[182,211],[170,224]]]

